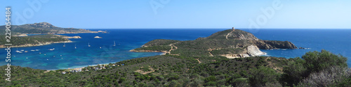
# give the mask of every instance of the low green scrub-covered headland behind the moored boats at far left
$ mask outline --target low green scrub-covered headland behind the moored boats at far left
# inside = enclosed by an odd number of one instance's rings
[[[6,42],[5,35],[0,35],[0,45],[4,45]],[[31,35],[27,37],[11,37],[11,42],[12,45],[18,46],[18,45],[26,45],[26,44],[32,44],[32,45],[39,45],[43,44],[45,42],[61,42],[61,41],[70,41],[67,38],[61,38],[59,35]]]

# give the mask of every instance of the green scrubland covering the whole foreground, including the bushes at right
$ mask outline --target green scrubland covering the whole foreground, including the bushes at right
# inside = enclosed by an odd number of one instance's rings
[[[69,74],[13,66],[11,83],[1,76],[0,86],[351,86],[345,62],[345,57],[325,50],[290,59],[164,55]],[[124,66],[112,66],[117,64]],[[1,66],[0,74],[5,73],[4,68]]]

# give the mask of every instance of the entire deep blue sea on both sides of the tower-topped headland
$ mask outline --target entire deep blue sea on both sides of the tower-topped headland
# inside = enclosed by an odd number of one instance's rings
[[[13,58],[11,65],[20,65],[43,70],[58,70],[67,68],[80,68],[88,65],[115,63],[132,58],[155,56],[158,52],[128,52],[154,39],[195,40],[207,37],[212,33],[225,29],[91,29],[92,31],[108,31],[109,33],[77,33],[61,34],[68,36],[81,36],[80,39],[70,39],[73,42],[55,43],[38,47],[12,48]],[[294,58],[303,56],[306,52],[326,49],[334,54],[341,54],[348,58],[351,66],[351,29],[243,29],[256,35],[261,40],[288,40],[297,47],[310,49],[274,49],[261,50],[265,56]],[[94,38],[100,36],[102,38]],[[114,45],[114,41],[117,46]],[[88,47],[88,43],[91,47]],[[77,49],[74,49],[74,46]],[[101,47],[101,48],[100,48]],[[54,50],[49,50],[53,49]],[[15,50],[27,51],[16,53]],[[31,50],[39,49],[32,52]],[[40,54],[39,54],[40,53]],[[0,52],[6,56],[6,51]],[[5,57],[3,57],[5,58]],[[6,65],[0,61],[0,65]]]

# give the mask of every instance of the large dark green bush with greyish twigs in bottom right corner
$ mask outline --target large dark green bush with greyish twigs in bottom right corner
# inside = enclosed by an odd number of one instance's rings
[[[343,73],[340,69],[347,68],[347,58],[324,49],[321,52],[307,52],[302,58],[305,60],[289,59],[280,80],[283,86],[296,86],[301,81],[300,86],[329,86],[342,80]]]

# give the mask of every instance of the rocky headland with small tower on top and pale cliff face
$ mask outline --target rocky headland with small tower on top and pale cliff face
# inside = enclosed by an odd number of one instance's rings
[[[289,41],[260,40],[252,33],[228,29],[197,40],[152,40],[130,52],[164,52],[171,55],[225,56],[244,58],[261,56],[260,49],[297,49]]]

